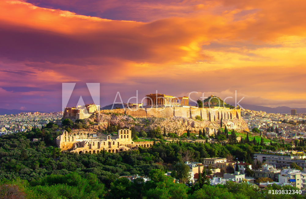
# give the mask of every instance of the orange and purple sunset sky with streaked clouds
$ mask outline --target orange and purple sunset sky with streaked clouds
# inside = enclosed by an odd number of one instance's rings
[[[305,10],[304,0],[0,0],[0,108],[60,111],[63,83],[76,83],[67,106],[92,102],[86,83],[100,83],[101,107],[157,91],[304,108]]]

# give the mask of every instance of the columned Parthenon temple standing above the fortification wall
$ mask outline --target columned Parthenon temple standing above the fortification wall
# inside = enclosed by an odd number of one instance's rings
[[[174,97],[165,94],[149,94],[146,95],[147,106],[168,106],[168,105],[176,105],[176,106],[188,106],[188,97]]]

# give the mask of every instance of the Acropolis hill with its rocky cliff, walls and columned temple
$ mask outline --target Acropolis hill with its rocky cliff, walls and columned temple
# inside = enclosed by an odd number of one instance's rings
[[[212,96],[211,96],[212,97]],[[181,135],[187,130],[198,133],[203,130],[214,134],[223,126],[236,131],[248,131],[248,126],[241,119],[240,109],[224,107],[198,108],[188,105],[188,97],[175,98],[163,94],[147,95],[146,105],[133,104],[132,107],[95,111],[87,120],[99,125],[90,126],[91,130],[106,129],[107,123],[124,128],[134,127],[136,131],[148,131],[156,127],[165,127],[167,132]],[[129,104],[132,105],[132,104]],[[131,107],[131,106],[130,106]]]

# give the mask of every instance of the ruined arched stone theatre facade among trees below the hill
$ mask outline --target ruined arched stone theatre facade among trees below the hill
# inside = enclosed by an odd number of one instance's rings
[[[56,144],[62,151],[70,151],[74,153],[99,153],[107,151],[109,153],[118,153],[138,149],[141,147],[151,147],[152,141],[133,142],[132,133],[129,129],[118,130],[117,135],[94,136],[95,133],[71,132],[64,133],[57,137]]]

